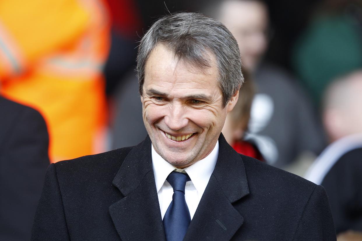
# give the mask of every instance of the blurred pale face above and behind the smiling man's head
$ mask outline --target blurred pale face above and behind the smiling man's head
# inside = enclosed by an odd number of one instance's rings
[[[255,0],[228,0],[222,4],[219,20],[239,44],[243,69],[253,71],[267,48],[266,6]]]

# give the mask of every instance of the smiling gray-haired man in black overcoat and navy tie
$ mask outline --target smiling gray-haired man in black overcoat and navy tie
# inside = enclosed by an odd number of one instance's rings
[[[165,16],[137,61],[148,136],[51,164],[33,240],[335,240],[323,187],[239,155],[222,136],[243,83],[224,25]]]

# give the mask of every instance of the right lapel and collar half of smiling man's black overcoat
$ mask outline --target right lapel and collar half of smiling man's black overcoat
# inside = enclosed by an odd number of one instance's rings
[[[214,172],[184,240],[230,240],[243,224],[232,203],[249,194],[243,161],[223,135]]]

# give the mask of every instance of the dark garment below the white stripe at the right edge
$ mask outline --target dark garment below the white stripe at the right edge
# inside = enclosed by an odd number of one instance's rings
[[[328,194],[336,232],[362,232],[362,148],[340,157],[321,185]]]

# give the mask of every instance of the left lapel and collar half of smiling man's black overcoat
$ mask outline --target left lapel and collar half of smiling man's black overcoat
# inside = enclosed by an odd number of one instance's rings
[[[109,207],[121,239],[165,240],[148,136],[127,155],[113,184],[124,196]]]

